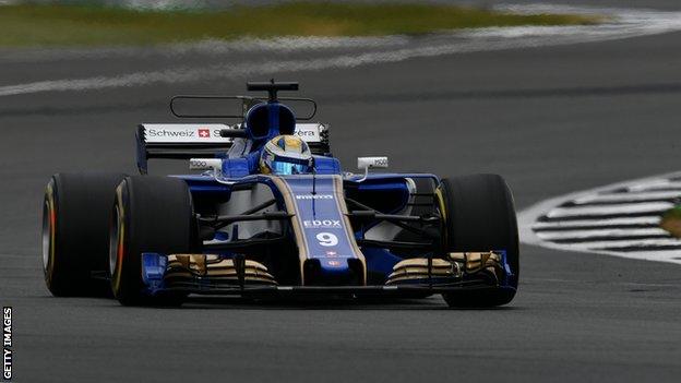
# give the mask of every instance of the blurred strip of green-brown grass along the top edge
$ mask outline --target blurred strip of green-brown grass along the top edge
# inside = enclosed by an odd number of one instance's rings
[[[138,11],[98,5],[0,5],[0,47],[155,45],[273,36],[419,35],[443,29],[584,25],[583,15],[519,15],[434,4],[294,1],[222,11]]]

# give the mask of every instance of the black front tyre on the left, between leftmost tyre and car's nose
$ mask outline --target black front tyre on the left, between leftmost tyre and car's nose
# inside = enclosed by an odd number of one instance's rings
[[[184,295],[151,296],[142,279],[142,253],[191,253],[195,222],[187,183],[170,177],[127,177],[116,189],[109,235],[113,296],[124,306],[179,306]]]

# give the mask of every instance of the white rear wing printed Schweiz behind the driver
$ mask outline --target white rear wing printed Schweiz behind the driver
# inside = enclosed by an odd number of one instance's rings
[[[224,123],[143,123],[138,125],[138,169],[145,175],[148,159],[190,159],[220,157],[231,147],[232,137],[220,135],[223,129],[240,129]],[[297,123],[295,134],[304,140],[312,154],[330,156],[328,125]]]

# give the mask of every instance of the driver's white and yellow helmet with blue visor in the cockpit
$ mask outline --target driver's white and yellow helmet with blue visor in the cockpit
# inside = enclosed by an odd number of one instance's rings
[[[312,172],[312,152],[297,135],[277,135],[265,144],[260,155],[263,175],[306,175]]]

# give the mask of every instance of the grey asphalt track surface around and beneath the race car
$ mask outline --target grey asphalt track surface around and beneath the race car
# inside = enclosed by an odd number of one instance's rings
[[[152,63],[1,64],[10,85]],[[275,75],[319,98],[346,167],[386,154],[395,170],[499,172],[524,207],[678,170],[679,68],[677,33]],[[523,247],[518,296],[481,311],[440,298],[179,310],[51,298],[38,238],[49,175],[134,172],[133,127],[170,120],[168,96],[241,93],[246,80],[0,98],[0,302],[14,307],[16,382],[679,379],[681,267],[664,263]]]

